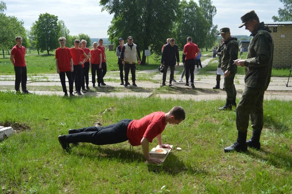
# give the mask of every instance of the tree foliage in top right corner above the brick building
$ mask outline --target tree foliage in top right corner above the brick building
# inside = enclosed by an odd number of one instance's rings
[[[273,16],[274,22],[288,22],[292,21],[292,0],[279,0],[284,4],[284,8],[279,8],[278,16]]]

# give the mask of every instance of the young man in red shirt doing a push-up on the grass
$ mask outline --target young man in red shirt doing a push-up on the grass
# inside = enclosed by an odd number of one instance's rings
[[[58,136],[64,150],[70,149],[69,143],[87,142],[95,145],[107,145],[129,141],[132,146],[142,146],[145,159],[150,163],[161,163],[149,155],[149,142],[157,137],[161,148],[171,147],[162,143],[161,133],[167,123],[179,124],[185,119],[185,110],[180,106],[169,112],[153,112],[139,120],[123,119],[106,127],[85,127],[69,129],[68,135]]]

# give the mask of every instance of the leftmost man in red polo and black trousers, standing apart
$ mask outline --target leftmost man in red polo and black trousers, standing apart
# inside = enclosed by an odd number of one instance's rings
[[[14,65],[15,71],[15,90],[16,92],[20,92],[20,83],[22,93],[28,94],[29,91],[26,89],[26,82],[27,82],[27,69],[25,63],[25,52],[26,49],[22,46],[22,38],[16,37],[15,38],[16,45],[13,46],[11,49],[10,54],[10,61]]]

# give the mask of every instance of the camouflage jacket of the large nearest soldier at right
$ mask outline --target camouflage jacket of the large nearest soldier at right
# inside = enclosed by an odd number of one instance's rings
[[[271,35],[271,30],[261,22],[258,29],[251,34],[253,38],[248,46],[247,59],[245,65],[245,86],[265,89],[269,86],[274,42]]]

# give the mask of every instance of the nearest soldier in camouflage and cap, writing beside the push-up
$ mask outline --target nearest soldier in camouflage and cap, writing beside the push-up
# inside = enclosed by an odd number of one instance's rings
[[[247,146],[260,149],[260,134],[263,129],[263,98],[270,83],[274,43],[271,30],[260,22],[255,11],[250,11],[241,17],[245,26],[251,32],[251,42],[248,46],[246,60],[235,60],[235,64],[245,67],[245,88],[236,108],[237,141],[224,148],[225,152],[246,151]],[[249,116],[253,135],[246,141]]]

